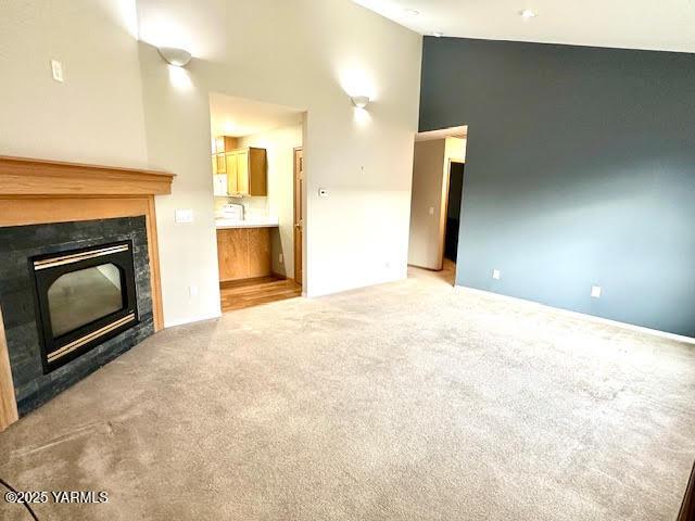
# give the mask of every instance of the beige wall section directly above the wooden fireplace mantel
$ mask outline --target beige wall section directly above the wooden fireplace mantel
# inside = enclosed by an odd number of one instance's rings
[[[0,2],[0,154],[148,166],[136,30],[134,0]]]

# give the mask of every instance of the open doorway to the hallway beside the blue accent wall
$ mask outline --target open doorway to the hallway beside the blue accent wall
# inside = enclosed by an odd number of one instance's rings
[[[468,127],[415,137],[408,264],[455,283]]]

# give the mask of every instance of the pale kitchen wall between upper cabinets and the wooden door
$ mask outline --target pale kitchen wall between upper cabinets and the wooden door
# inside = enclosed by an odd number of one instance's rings
[[[267,211],[280,224],[273,233],[273,272],[294,277],[294,149],[302,147],[302,125],[276,128],[240,140],[240,147],[267,150]],[[279,254],[283,262],[279,262]]]

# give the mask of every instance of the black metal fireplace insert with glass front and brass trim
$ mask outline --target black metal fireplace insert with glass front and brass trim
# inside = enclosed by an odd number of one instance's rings
[[[132,242],[30,258],[47,374],[139,322]]]

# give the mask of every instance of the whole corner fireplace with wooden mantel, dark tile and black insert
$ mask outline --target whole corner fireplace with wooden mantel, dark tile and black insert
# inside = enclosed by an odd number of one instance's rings
[[[0,156],[0,431],[162,329],[174,177]]]

